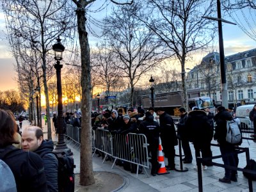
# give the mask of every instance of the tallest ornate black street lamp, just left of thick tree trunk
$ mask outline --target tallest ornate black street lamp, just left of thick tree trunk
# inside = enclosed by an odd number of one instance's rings
[[[62,90],[61,90],[61,68],[63,65],[60,65],[60,61],[62,60],[62,52],[65,50],[65,47],[61,44],[60,37],[57,38],[57,43],[52,45],[52,49],[54,51],[56,60],[56,64],[54,68],[56,68],[56,76],[57,76],[57,92],[58,92],[58,116],[57,116],[57,123],[58,123],[58,142],[56,147],[54,148],[54,154],[58,156],[63,156],[63,152],[67,156],[72,156],[73,153],[71,152],[70,148],[67,147],[64,141],[64,130],[63,130],[63,106],[62,106]],[[59,188],[60,189],[60,188]]]

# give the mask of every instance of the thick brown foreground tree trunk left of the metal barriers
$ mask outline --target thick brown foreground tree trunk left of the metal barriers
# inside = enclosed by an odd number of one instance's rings
[[[82,87],[82,124],[81,124],[81,156],[80,156],[80,184],[88,186],[95,183],[92,164],[92,127],[91,127],[91,77],[90,77],[90,47],[88,33],[85,28],[85,9],[77,4],[77,29],[81,49],[81,87]]]

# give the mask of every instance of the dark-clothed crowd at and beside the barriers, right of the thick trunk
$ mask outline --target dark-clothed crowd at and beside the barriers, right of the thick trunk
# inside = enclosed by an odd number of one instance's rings
[[[256,107],[255,107],[256,108]],[[218,141],[220,152],[223,155],[225,165],[237,166],[237,155],[228,156],[235,152],[235,146],[225,140],[227,134],[227,120],[235,118],[234,111],[220,106],[216,109],[216,115],[209,108],[198,109],[193,107],[187,112],[185,108],[179,108],[180,121],[174,124],[172,116],[168,115],[164,108],[148,108],[147,111],[139,108],[127,110],[127,115],[122,109],[103,111],[102,114],[92,113],[93,129],[107,129],[111,134],[127,134],[129,132],[145,134],[148,141],[148,154],[151,156],[151,174],[156,175],[160,165],[157,161],[157,147],[159,141],[163,145],[164,157],[167,159],[166,170],[175,170],[175,146],[180,139],[184,152],[183,163],[192,163],[193,156],[189,143],[193,143],[195,157],[207,158],[202,162],[202,170],[212,166],[212,139]],[[256,114],[256,113],[255,113]],[[214,132],[214,122],[216,124]],[[176,133],[177,128],[177,133]],[[239,143],[241,144],[241,143]],[[239,145],[238,144],[238,145]],[[199,163],[196,162],[195,169]],[[225,176],[220,182],[231,183],[237,181],[236,172],[225,168]]]

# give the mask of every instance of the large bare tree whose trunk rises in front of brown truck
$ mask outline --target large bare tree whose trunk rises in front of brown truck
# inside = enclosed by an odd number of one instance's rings
[[[211,15],[213,1],[148,0],[147,2],[148,8],[144,10],[148,11],[150,22],[144,22],[163,42],[166,55],[179,60],[182,97],[184,97],[184,106],[188,108],[185,65],[193,52],[203,49],[213,39],[214,26],[211,25],[211,20],[202,18]]]

